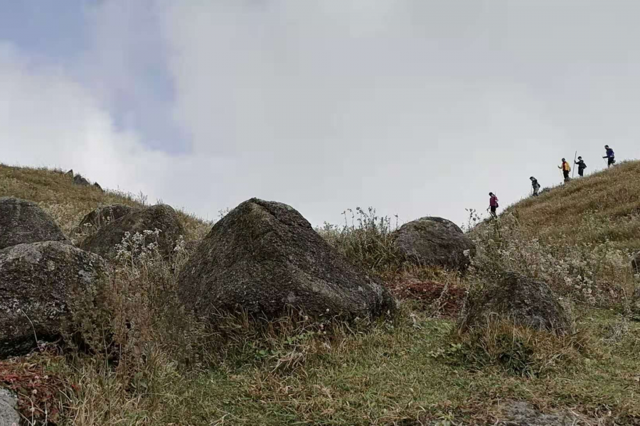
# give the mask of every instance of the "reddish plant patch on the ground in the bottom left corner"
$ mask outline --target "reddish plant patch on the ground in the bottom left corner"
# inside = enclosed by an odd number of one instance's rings
[[[18,411],[29,422],[55,425],[63,382],[38,364],[41,356],[46,354],[0,361],[0,386],[18,395]]]

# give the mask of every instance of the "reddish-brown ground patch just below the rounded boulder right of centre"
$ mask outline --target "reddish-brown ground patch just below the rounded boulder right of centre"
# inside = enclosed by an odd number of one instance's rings
[[[442,283],[415,278],[388,284],[389,290],[398,299],[418,300],[430,306],[439,305],[439,315],[455,317],[462,310],[465,290],[452,285],[445,287]]]

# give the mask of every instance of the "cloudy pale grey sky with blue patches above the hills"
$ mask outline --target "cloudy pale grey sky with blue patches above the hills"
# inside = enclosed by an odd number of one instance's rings
[[[640,156],[634,0],[0,0],[0,163],[458,224]],[[567,206],[569,207],[569,206]],[[395,219],[394,219],[395,220]]]

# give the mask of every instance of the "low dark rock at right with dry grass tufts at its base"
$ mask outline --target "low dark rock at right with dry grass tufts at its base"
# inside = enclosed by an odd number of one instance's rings
[[[506,273],[500,283],[469,297],[462,329],[482,326],[493,316],[558,334],[572,329],[570,315],[549,286],[517,273]]]

